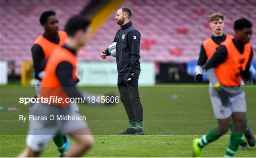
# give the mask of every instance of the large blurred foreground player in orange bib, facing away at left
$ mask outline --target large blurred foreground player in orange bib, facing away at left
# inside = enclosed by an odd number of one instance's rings
[[[90,21],[81,16],[71,17],[65,25],[68,39],[63,46],[57,47],[49,56],[46,63],[45,74],[39,90],[39,97],[50,96],[81,98],[80,92],[75,88],[78,81],[76,76],[76,52],[87,42]],[[61,55],[59,55],[61,54]],[[50,105],[35,104],[31,110],[34,117],[46,116],[47,120],[30,120],[27,135],[27,148],[20,157],[38,157],[52,137],[57,133],[69,134],[74,144],[67,151],[66,157],[81,157],[82,154],[93,146],[93,138],[87,124],[83,120],[52,120],[51,115],[81,117],[69,103],[60,102]]]

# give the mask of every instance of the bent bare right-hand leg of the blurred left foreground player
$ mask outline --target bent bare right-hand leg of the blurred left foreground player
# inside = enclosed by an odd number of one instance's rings
[[[82,154],[94,145],[93,137],[87,127],[69,134],[74,143],[67,151],[66,157],[82,157]]]

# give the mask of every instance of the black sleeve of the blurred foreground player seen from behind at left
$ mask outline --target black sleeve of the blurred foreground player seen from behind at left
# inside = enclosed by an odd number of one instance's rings
[[[67,62],[61,62],[56,68],[56,75],[70,98],[82,98],[80,92],[75,88],[76,82],[72,77],[73,66]]]

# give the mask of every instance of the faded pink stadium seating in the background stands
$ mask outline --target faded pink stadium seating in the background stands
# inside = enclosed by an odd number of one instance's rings
[[[77,14],[89,1],[1,1],[0,59],[15,61],[16,74],[19,75],[20,64],[25,60],[32,61],[31,46],[43,33],[38,20],[40,14],[45,10],[55,10],[60,19],[60,29],[63,29],[67,18]],[[131,8],[131,21],[141,33],[141,61],[196,61],[202,41],[211,36],[209,15],[216,11],[226,15],[225,33],[234,34],[233,23],[239,17],[247,17],[256,24],[256,16],[252,14],[256,8],[255,0],[215,0],[214,3],[212,5],[209,0],[125,0],[122,6]],[[79,60],[102,61],[101,50],[108,48],[120,28],[115,16],[116,12],[91,37],[87,47],[78,53]],[[255,25],[253,30],[256,30]],[[256,52],[256,32],[250,43]],[[106,61],[114,60],[106,58]],[[256,55],[253,60],[256,61]]]

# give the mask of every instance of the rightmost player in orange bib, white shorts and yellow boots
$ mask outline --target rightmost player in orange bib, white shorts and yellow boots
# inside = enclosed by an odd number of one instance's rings
[[[231,118],[234,129],[231,132],[229,146],[225,157],[233,157],[242,141],[247,111],[245,92],[241,86],[242,78],[250,78],[250,62],[253,58],[249,44],[252,35],[252,24],[246,18],[234,23],[235,38],[219,46],[205,69],[210,80],[210,100],[218,126],[212,128],[201,139],[193,141],[193,156],[201,157],[202,148],[216,141],[229,129]]]

